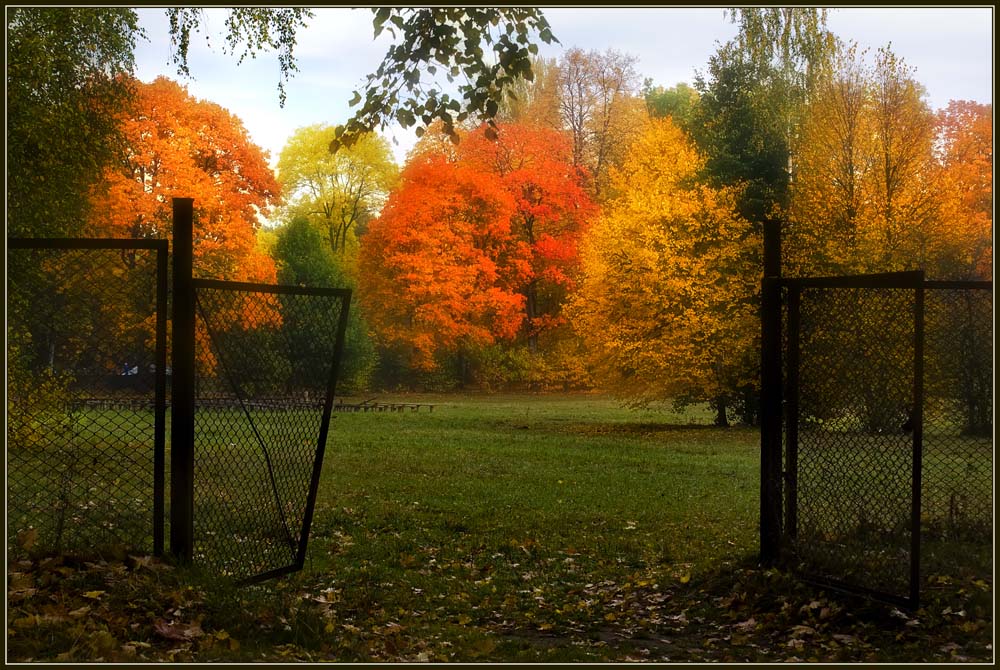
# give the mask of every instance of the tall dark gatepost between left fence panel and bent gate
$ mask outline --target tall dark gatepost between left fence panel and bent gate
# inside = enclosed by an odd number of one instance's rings
[[[174,198],[173,379],[170,423],[170,551],[194,550],[194,201]]]

